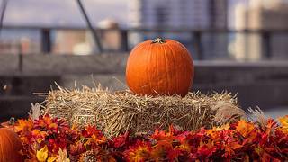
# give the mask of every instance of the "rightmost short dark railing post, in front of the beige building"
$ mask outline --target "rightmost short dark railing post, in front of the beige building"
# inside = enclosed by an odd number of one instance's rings
[[[262,47],[264,50],[264,57],[267,59],[272,58],[272,42],[271,42],[271,33],[269,31],[263,31],[262,35]]]

